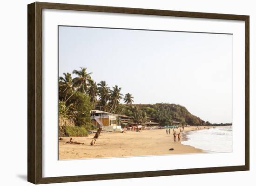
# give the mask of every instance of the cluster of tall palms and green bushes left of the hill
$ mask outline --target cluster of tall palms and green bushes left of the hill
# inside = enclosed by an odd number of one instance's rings
[[[122,99],[127,105],[133,103],[133,96],[123,96],[117,85],[110,89],[105,81],[96,83],[87,68],[80,67],[72,74],[67,72],[59,77],[59,116],[72,118],[76,126],[91,126],[92,109],[120,114],[124,111],[124,107],[120,110]]]

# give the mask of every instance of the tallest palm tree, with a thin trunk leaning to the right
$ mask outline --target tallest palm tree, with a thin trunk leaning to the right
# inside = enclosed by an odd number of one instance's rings
[[[87,85],[88,85],[88,82],[90,81],[93,81],[91,79],[91,76],[90,74],[92,73],[87,73],[86,70],[87,68],[84,68],[84,67],[80,67],[81,70],[80,71],[77,71],[77,70],[74,70],[72,73],[77,75],[78,77],[75,77],[73,79],[73,86],[76,87],[75,91],[71,94],[71,96],[74,95],[74,93],[79,90],[80,92],[82,93],[86,93],[86,90],[87,90]],[[71,97],[69,96],[67,98],[67,100]],[[65,102],[67,102],[67,100]]]

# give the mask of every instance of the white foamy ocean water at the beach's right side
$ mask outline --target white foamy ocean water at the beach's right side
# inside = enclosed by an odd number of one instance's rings
[[[233,127],[224,126],[210,129],[194,130],[187,133],[184,145],[200,148],[207,152],[232,152]]]

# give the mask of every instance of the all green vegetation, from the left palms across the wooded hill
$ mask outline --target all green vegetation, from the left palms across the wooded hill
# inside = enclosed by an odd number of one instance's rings
[[[72,77],[74,75],[74,78]],[[59,78],[59,115],[72,118],[75,126],[93,129],[90,110],[98,109],[115,114],[128,115],[135,123],[145,123],[154,118],[162,126],[174,125],[175,122],[189,125],[202,125],[199,117],[176,104],[133,104],[132,94],[121,93],[121,87],[108,87],[105,81],[96,83],[87,68],[80,67],[71,73],[64,73]],[[123,100],[123,104],[121,104]]]

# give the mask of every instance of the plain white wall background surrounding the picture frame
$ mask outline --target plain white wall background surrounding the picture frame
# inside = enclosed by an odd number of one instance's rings
[[[256,142],[252,131],[256,108],[256,11],[252,0],[45,0],[47,2],[167,9],[250,15],[250,171],[61,183],[65,186],[130,185],[245,185],[256,174]],[[0,184],[27,182],[27,4],[32,0],[2,1],[0,6]],[[53,185],[53,184],[49,184]],[[252,185],[252,184],[249,184]]]

